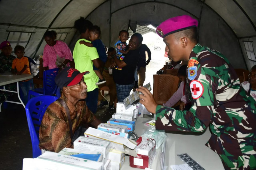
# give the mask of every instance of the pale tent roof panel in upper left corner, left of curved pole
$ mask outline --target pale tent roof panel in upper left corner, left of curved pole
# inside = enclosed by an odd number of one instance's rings
[[[69,0],[1,0],[1,23],[48,27]]]

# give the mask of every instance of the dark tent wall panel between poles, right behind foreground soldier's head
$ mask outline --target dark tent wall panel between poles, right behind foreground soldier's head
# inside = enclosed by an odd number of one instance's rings
[[[209,7],[203,6],[199,43],[225,55],[234,68],[246,69],[244,56],[235,33]]]

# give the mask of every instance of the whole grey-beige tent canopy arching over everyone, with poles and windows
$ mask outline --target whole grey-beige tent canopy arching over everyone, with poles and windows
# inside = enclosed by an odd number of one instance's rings
[[[74,22],[83,16],[100,26],[111,47],[122,29],[186,14],[199,21],[199,43],[223,53],[234,68],[250,69],[256,64],[255,8],[255,0],[0,0],[0,42],[21,44],[33,58],[43,53],[44,32],[55,30],[72,51],[79,38]]]

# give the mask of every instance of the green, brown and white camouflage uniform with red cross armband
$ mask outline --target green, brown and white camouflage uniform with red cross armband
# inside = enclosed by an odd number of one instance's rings
[[[256,102],[242,88],[225,56],[196,44],[188,62],[192,107],[178,111],[157,106],[156,129],[202,132],[226,169],[256,168]]]

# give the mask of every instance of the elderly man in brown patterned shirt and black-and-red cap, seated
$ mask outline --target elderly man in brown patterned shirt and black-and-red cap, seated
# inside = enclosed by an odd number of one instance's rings
[[[60,152],[65,147],[73,148],[73,134],[82,123],[91,123],[94,127],[101,123],[84,101],[87,97],[84,74],[88,73],[67,67],[56,76],[55,82],[62,94],[45,111],[39,129],[40,149]]]

